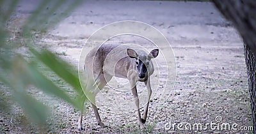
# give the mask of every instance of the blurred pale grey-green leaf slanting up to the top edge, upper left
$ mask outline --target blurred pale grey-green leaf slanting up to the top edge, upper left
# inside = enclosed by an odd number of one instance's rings
[[[83,0],[44,0],[22,27],[22,36],[31,37],[31,31],[46,32],[72,13]]]

